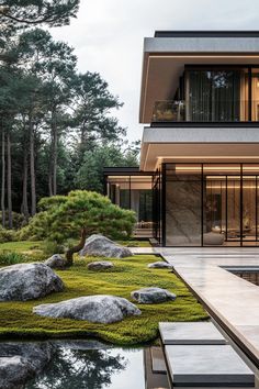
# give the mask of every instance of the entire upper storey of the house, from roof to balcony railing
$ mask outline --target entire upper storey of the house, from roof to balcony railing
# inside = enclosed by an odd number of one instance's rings
[[[145,38],[140,123],[259,126],[258,107],[259,32],[177,31]]]

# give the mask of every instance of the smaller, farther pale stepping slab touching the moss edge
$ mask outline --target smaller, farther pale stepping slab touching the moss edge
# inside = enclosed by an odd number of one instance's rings
[[[167,344],[226,344],[226,340],[211,322],[159,323],[162,343]]]

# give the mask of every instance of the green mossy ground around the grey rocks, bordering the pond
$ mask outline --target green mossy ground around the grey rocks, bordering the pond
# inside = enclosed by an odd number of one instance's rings
[[[32,242],[24,242],[30,248]],[[24,248],[23,247],[23,248]],[[66,289],[44,299],[27,302],[0,303],[0,337],[75,337],[97,336],[115,344],[133,345],[149,342],[158,336],[160,321],[206,320],[202,305],[176,275],[167,269],[148,269],[147,265],[157,260],[153,255],[114,259],[115,267],[102,273],[87,269],[92,258],[76,258],[72,268],[57,271]],[[97,258],[94,258],[97,260]],[[176,301],[161,304],[138,304],[140,316],[126,318],[113,324],[93,324],[70,319],[42,318],[32,313],[41,303],[58,302],[80,296],[115,294],[131,300],[131,291],[143,287],[161,287],[174,292]],[[132,301],[132,300],[131,300]]]

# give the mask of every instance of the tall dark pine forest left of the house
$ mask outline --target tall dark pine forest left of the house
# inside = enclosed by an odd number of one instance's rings
[[[52,29],[79,0],[0,2],[1,224],[12,229],[44,197],[103,191],[104,166],[136,166],[115,118],[123,102],[98,73],[78,71],[75,49]]]

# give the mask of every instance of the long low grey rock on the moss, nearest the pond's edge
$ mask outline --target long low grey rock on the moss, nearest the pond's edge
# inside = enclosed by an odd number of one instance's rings
[[[52,304],[42,304],[33,309],[34,313],[48,318],[88,320],[92,323],[114,323],[125,316],[142,312],[133,303],[115,296],[88,296]]]

